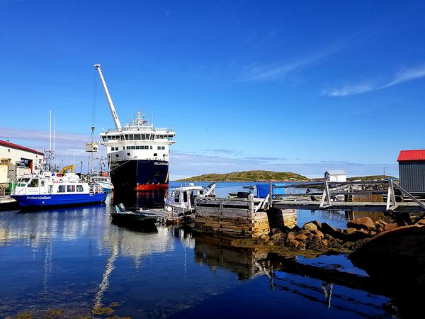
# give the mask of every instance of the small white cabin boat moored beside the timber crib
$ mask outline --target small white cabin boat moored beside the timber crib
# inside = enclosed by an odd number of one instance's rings
[[[195,198],[198,197],[215,197],[215,182],[212,182],[205,188],[194,186],[177,187],[171,194],[165,198],[164,209],[169,213],[170,218],[179,218],[194,213]]]

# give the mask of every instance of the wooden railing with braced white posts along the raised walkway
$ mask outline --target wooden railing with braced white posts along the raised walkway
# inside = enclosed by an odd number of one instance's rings
[[[274,189],[290,189],[290,188],[304,188],[310,189],[310,192],[306,193],[290,193],[290,194],[274,194]],[[397,194],[396,194],[397,193]],[[269,196],[268,206],[273,207],[273,204],[283,201],[283,198],[290,197],[293,201],[297,201],[297,198],[306,197],[309,198],[320,198],[319,203],[315,205],[317,208],[332,208],[332,206],[339,206],[338,202],[347,202],[349,196],[358,195],[382,195],[382,198],[386,196],[386,211],[395,211],[399,208],[400,201],[396,201],[396,198],[407,197],[412,200],[418,208],[418,211],[424,212],[424,214],[417,218],[417,220],[425,217],[425,203],[420,201],[409,191],[403,189],[401,186],[396,184],[392,179],[385,179],[380,181],[317,181],[317,182],[293,182],[285,184],[283,186],[269,184]],[[305,199],[304,199],[305,200]],[[287,202],[287,201],[286,201]],[[364,203],[358,203],[358,206],[362,206]],[[355,206],[356,203],[353,203]]]

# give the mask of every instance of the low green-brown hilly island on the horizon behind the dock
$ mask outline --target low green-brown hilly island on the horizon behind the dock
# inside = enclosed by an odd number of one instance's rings
[[[246,171],[225,174],[203,174],[176,181],[310,181],[293,172]]]

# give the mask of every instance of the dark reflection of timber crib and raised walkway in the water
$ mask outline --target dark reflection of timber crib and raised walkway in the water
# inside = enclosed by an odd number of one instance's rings
[[[300,263],[299,258],[283,258],[256,249],[232,247],[224,238],[195,238],[196,262],[207,264],[214,272],[220,267],[234,272],[243,280],[266,275],[271,291],[297,295],[305,301],[317,303],[317,307],[324,305],[326,308],[332,307],[333,310],[348,313],[348,317],[375,317],[373,314],[385,313],[382,311],[382,304],[388,299],[379,296],[383,291],[368,276],[340,272],[336,270],[338,267],[332,259],[322,259],[323,262],[319,262],[321,265],[318,267],[317,264],[313,266]],[[340,267],[344,268],[344,265]],[[378,303],[371,303],[370,298]],[[310,304],[309,308],[311,307]],[[190,312],[188,315],[191,318]],[[319,312],[317,316],[320,317]]]

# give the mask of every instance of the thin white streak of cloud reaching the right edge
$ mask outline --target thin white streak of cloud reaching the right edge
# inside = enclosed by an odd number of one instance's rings
[[[347,85],[339,89],[324,89],[322,91],[322,95],[349,96],[362,94],[365,92],[387,89],[388,87],[412,81],[414,79],[421,79],[422,77],[425,77],[425,65],[419,65],[409,69],[402,68],[392,77],[392,79],[389,79],[386,82],[367,83],[367,81],[363,81],[363,84]]]

